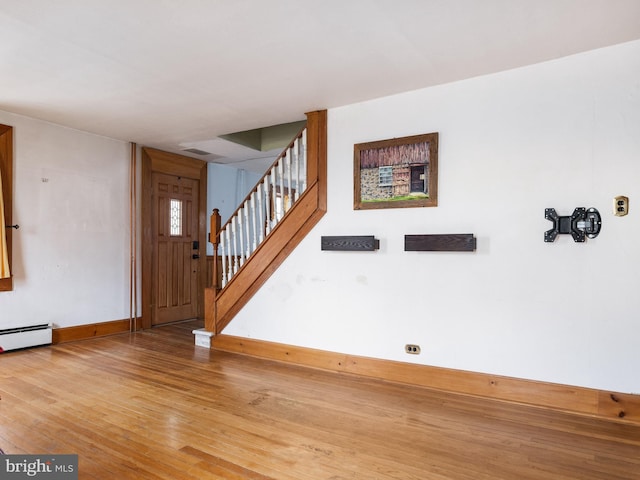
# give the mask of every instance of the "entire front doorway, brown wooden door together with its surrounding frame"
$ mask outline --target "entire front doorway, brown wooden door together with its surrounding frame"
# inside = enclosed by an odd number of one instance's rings
[[[142,328],[202,318],[206,162],[142,149]]]

